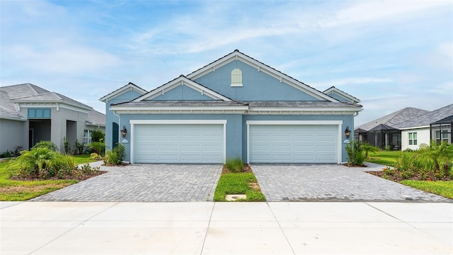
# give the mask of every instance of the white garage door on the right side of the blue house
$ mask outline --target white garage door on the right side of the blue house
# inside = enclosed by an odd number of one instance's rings
[[[250,125],[251,163],[337,163],[338,125]]]

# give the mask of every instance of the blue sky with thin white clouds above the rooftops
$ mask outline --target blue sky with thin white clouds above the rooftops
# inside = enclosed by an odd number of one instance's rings
[[[0,86],[32,83],[105,112],[239,49],[359,98],[356,126],[453,103],[453,1],[1,0]]]

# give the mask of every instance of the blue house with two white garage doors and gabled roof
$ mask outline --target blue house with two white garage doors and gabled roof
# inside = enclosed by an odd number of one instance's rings
[[[362,111],[239,50],[151,91],[129,83],[103,96],[108,147],[132,163],[345,162],[345,132]],[[344,95],[343,95],[344,94]]]

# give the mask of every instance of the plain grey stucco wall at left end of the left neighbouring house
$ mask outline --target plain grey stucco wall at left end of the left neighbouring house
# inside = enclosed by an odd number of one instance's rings
[[[0,119],[0,153],[7,149],[14,151],[18,146],[24,147],[25,127],[25,121]]]

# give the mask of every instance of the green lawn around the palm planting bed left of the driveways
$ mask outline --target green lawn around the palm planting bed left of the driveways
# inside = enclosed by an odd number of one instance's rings
[[[74,159],[76,164],[84,164],[90,162],[90,155],[76,155]],[[9,162],[11,162],[11,159],[5,159],[0,162],[0,201],[24,201],[77,183],[75,180],[10,180],[8,179],[10,176],[8,170]]]

